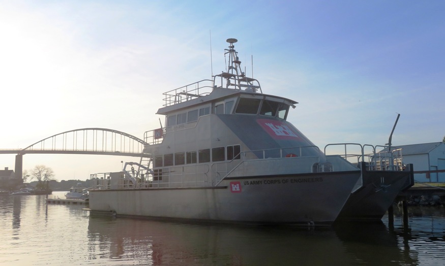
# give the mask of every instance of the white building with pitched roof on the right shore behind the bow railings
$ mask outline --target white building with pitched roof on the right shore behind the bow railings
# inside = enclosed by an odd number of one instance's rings
[[[395,148],[402,148],[403,163],[413,164],[414,180],[419,182],[445,182],[445,172],[427,172],[445,171],[445,143],[422,143],[396,146]],[[425,173],[416,173],[419,171]]]

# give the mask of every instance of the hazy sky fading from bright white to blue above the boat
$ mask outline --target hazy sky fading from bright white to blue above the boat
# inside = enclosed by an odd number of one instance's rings
[[[0,0],[0,149],[76,128],[139,138],[162,92],[225,68],[227,38],[288,120],[328,143],[393,145],[445,136],[444,1]],[[211,32],[211,38],[210,38]],[[212,42],[210,42],[212,40]],[[0,169],[14,169],[14,154]],[[37,155],[58,180],[121,170],[134,157]]]

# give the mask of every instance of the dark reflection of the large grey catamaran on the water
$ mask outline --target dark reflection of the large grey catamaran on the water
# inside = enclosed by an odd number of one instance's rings
[[[353,265],[333,230],[172,223],[92,214],[87,242],[91,256],[101,248],[102,258],[119,259],[122,264]]]

